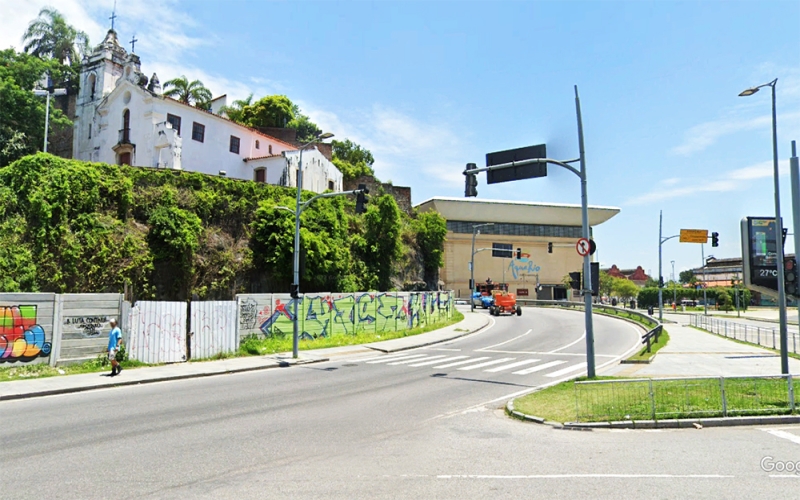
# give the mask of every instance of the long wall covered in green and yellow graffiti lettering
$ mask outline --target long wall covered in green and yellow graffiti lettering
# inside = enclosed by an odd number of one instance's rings
[[[240,295],[237,302],[240,337],[292,334],[295,304],[288,294]],[[452,311],[452,292],[318,293],[297,304],[304,339],[405,330],[448,319]]]

